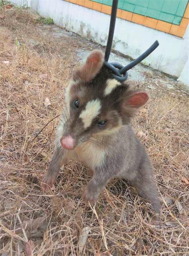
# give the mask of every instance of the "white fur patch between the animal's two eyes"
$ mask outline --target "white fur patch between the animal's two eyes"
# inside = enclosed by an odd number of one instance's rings
[[[99,99],[87,102],[85,109],[79,115],[83,121],[85,129],[91,125],[93,119],[100,113],[100,109],[101,101]]]

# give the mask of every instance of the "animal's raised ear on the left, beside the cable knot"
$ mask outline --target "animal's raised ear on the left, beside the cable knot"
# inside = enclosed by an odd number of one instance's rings
[[[80,78],[84,82],[90,82],[100,71],[104,63],[104,55],[99,50],[94,50],[86,59],[86,63],[73,74],[73,79]]]

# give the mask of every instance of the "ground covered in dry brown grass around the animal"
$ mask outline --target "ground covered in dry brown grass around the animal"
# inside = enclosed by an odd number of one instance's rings
[[[189,100],[160,72],[143,68],[128,82],[151,96],[133,126],[154,166],[161,223],[149,223],[149,204],[126,181],[86,206],[82,163],[41,191],[64,89],[79,53],[99,46],[38,18],[0,9],[0,255],[189,255]]]

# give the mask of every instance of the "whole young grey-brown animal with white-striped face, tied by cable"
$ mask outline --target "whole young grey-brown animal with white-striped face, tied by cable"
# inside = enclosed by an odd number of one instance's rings
[[[93,51],[73,73],[66,89],[68,117],[62,113],[49,170],[43,187],[52,187],[62,165],[78,159],[92,170],[83,200],[94,203],[114,177],[124,178],[160,213],[160,200],[145,148],[131,127],[131,118],[149,96],[118,82]]]

